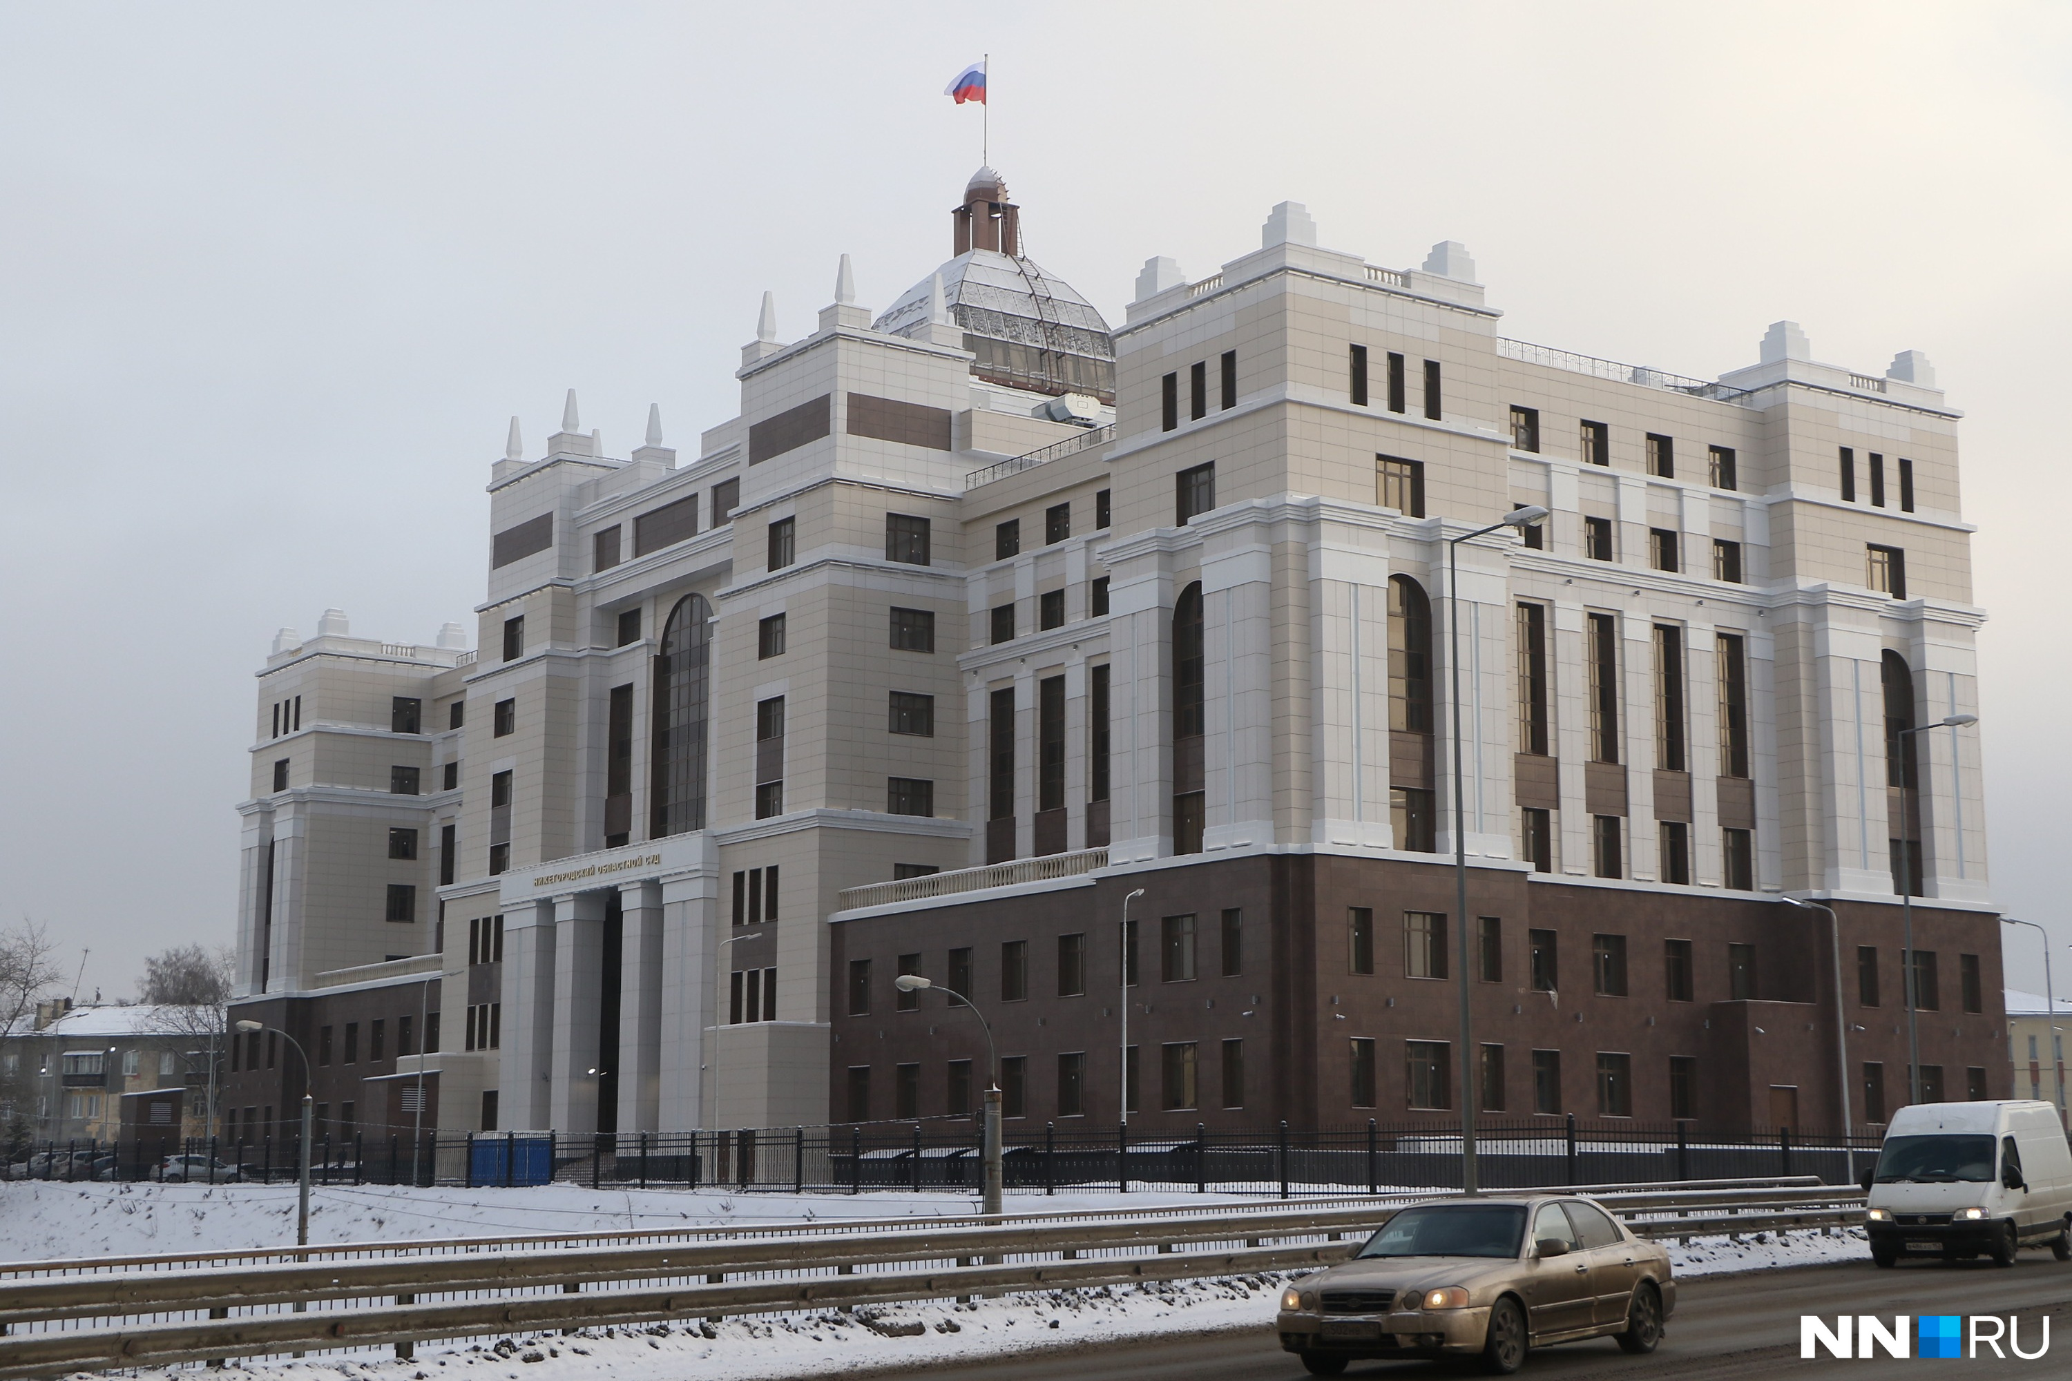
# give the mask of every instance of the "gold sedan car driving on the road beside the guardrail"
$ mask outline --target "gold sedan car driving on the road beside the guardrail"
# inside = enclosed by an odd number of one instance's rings
[[[1653,1352],[1676,1309],[1668,1253],[1575,1195],[1413,1203],[1359,1253],[1280,1292],[1280,1346],[1316,1377],[1357,1358],[1479,1356],[1616,1338]]]

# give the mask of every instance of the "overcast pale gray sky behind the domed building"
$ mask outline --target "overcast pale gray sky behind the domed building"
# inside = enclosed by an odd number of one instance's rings
[[[1991,870],[2072,942],[2072,10],[1977,2],[0,4],[0,915],[110,998],[228,942],[274,629],[472,629],[510,414],[537,451],[576,387],[624,456],[659,402],[692,453],[765,288],[787,340],[841,253],[891,304],[949,253],[982,52],[1028,248],[1111,321],[1295,199],[1374,263],[1465,240],[1523,340],[1925,350]]]

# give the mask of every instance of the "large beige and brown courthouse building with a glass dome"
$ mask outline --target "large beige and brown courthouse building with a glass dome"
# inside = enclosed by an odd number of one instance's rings
[[[1977,731],[1900,735],[1983,619],[1925,356],[1531,346],[1295,203],[1109,323],[1017,215],[980,170],[883,315],[765,298],[696,456],[514,420],[479,652],[276,640],[234,1015],[340,1133],[968,1114],[905,971],[1009,1130],[1444,1120],[1463,954],[1492,1114],[1830,1128],[1840,1000],[1881,1122],[1902,880],[1925,1091],[2008,1093]]]

